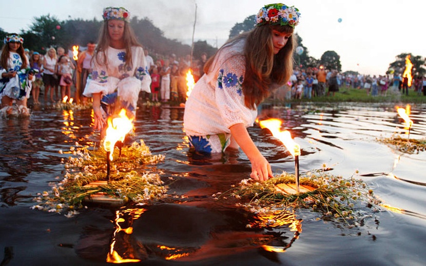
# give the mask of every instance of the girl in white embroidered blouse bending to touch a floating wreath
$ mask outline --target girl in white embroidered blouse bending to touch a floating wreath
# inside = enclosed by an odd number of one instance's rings
[[[293,31],[299,16],[295,7],[266,5],[254,30],[229,40],[206,62],[205,74],[185,105],[191,150],[220,153],[241,147],[251,162],[251,178],[273,177],[246,128],[253,126],[257,105],[293,72]]]

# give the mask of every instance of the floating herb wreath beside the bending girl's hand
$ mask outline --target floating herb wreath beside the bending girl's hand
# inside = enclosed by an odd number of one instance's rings
[[[248,200],[242,206],[254,213],[264,213],[274,209],[306,208],[323,214],[325,220],[346,223],[348,226],[359,225],[359,220],[366,216],[364,207],[376,210],[380,200],[368,189],[365,182],[354,176],[343,178],[323,171],[308,172],[300,178],[300,185],[315,188],[298,194],[285,194],[277,190],[280,183],[294,183],[295,175],[283,172],[264,182],[243,179],[237,186],[226,193],[237,199]]]

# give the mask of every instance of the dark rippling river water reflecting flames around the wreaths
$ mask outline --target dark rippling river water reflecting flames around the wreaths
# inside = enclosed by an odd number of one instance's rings
[[[89,207],[72,218],[31,210],[36,194],[63,178],[61,159],[68,155],[59,150],[76,141],[98,145],[99,138],[89,110],[33,110],[30,119],[0,119],[1,265],[110,264],[111,247],[142,265],[426,264],[426,152],[401,153],[376,140],[405,132],[394,105],[304,105],[270,109],[269,115],[283,119],[300,145],[301,171],[324,163],[343,177],[358,170],[389,207],[352,229],[309,210],[284,212],[280,227],[250,229],[247,224],[259,217],[235,199],[212,196],[249,177],[247,157],[191,156],[183,109],[142,107],[135,139],[166,156],[157,171],[163,180],[175,180],[169,193],[176,200],[119,210]],[[426,137],[426,106],[412,106],[411,118],[410,138]],[[294,172],[294,160],[278,140],[258,127],[249,131],[274,173]],[[128,227],[133,231],[120,231]]]

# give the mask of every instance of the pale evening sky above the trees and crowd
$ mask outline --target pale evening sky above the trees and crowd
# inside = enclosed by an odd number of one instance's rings
[[[102,19],[104,7],[125,7],[131,16],[148,17],[167,38],[190,44],[197,4],[195,40],[221,46],[230,29],[265,5],[262,0],[0,0],[0,28],[27,30],[34,17]],[[426,25],[418,0],[299,0],[281,2],[301,13],[296,32],[309,55],[340,55],[342,71],[384,74],[401,53],[426,56]],[[341,22],[339,23],[339,18]],[[141,40],[143,44],[143,40]],[[25,44],[25,43],[24,43]]]

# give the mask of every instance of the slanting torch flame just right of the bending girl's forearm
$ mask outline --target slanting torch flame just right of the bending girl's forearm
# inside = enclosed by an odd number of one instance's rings
[[[282,124],[280,119],[270,118],[266,120],[258,120],[258,122],[261,128],[269,129],[272,135],[284,144],[293,157],[300,155],[300,146],[293,140],[290,132],[287,130],[280,130]]]

